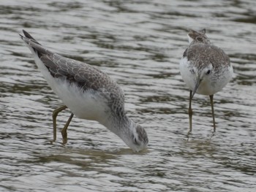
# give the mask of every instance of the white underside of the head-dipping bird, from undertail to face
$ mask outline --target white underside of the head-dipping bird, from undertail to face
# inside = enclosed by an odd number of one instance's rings
[[[112,116],[106,91],[104,91],[104,94],[92,89],[82,91],[75,83],[70,84],[64,78],[53,77],[45,64],[39,59],[37,53],[34,52],[34,49],[29,45],[27,47],[31,50],[35,63],[45,80],[75,116],[87,120],[97,120],[118,135],[134,151],[140,151],[147,147],[147,143],[135,145],[133,142],[134,137],[138,139],[138,133],[135,129],[137,125],[132,120],[128,118],[125,122],[122,122],[123,124],[120,124],[120,119]]]

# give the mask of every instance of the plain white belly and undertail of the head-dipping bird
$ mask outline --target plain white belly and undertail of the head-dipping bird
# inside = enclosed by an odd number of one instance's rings
[[[87,120],[97,120],[99,123],[104,123],[105,119],[109,117],[108,101],[102,94],[92,90],[82,91],[75,83],[70,84],[63,78],[51,76],[48,69],[40,64],[40,61],[38,65],[50,88],[75,116]]]

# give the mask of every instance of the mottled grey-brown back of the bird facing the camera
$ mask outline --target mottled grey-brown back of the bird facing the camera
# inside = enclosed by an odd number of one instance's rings
[[[190,45],[184,52],[188,61],[193,62],[195,66],[203,66],[203,63],[212,64],[214,69],[219,66],[230,66],[230,58],[222,49],[214,45],[197,43]]]

